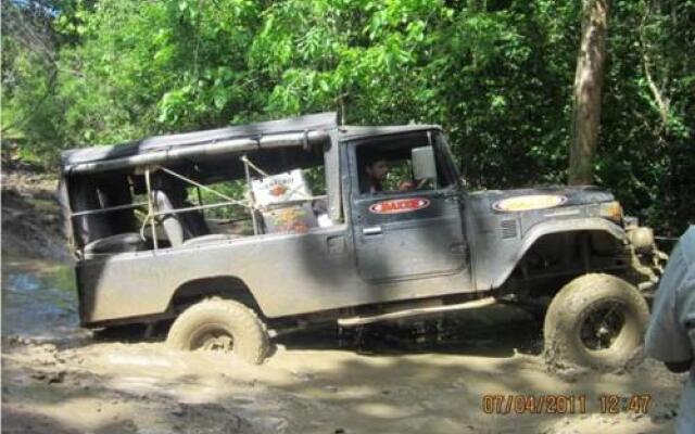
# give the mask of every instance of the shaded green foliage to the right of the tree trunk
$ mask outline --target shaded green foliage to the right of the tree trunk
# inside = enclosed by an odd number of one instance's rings
[[[619,1],[603,104],[598,181],[673,234],[695,222],[695,1]],[[650,89],[652,81],[658,94]],[[657,102],[668,102],[662,116]]]

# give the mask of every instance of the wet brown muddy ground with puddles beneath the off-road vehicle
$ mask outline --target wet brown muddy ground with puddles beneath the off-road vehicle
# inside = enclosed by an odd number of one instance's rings
[[[214,353],[170,350],[161,333],[150,340],[138,330],[93,335],[77,324],[60,225],[47,217],[55,210],[46,195],[52,194],[50,177],[7,180],[3,176],[2,432],[673,430],[683,375],[652,360],[632,372],[547,373],[541,324],[507,307],[445,322],[367,329],[362,336],[330,327],[296,333],[278,340],[275,355],[261,367]],[[504,397],[492,413],[483,409],[485,395]],[[546,407],[540,414],[529,414],[530,408],[505,414],[510,395],[567,395],[574,411],[549,414]],[[603,413],[601,397],[612,395],[650,400],[646,411],[626,410],[624,403],[617,414]]]

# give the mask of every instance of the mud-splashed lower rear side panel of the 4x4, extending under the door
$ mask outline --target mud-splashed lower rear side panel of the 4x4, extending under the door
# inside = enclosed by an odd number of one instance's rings
[[[337,226],[85,261],[78,266],[83,322],[162,314],[180,285],[214,277],[241,279],[268,317],[451,294],[469,286],[467,271],[366,283],[356,272],[351,240],[348,227]]]

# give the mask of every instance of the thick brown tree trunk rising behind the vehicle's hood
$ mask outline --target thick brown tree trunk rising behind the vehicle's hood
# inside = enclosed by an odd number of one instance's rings
[[[583,0],[582,39],[574,75],[569,183],[593,182],[593,156],[601,126],[601,88],[606,61],[608,0]]]

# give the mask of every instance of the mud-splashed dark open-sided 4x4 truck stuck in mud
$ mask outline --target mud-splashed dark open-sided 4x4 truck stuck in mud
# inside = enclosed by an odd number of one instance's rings
[[[621,367],[665,255],[595,187],[469,192],[441,128],[332,113],[67,151],[81,323],[258,363],[298,326],[511,303],[553,363]]]

